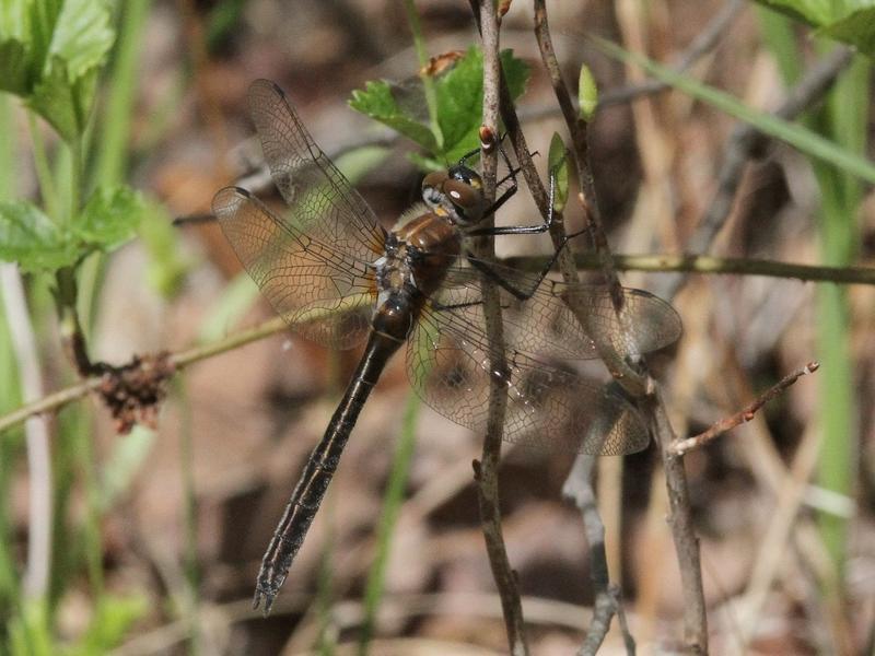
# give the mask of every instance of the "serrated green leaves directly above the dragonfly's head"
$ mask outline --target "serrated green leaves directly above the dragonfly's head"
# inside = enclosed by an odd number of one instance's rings
[[[514,58],[512,50],[501,54],[501,63],[511,94],[520,97],[528,80],[528,66]],[[369,82],[364,90],[352,92],[350,107],[390,127],[423,148],[433,167],[444,167],[479,147],[478,130],[482,120],[483,56],[470,48],[446,71],[431,79],[438,108],[438,132],[427,118],[422,81],[402,84]]]

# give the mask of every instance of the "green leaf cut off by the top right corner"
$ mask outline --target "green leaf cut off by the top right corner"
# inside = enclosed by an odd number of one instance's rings
[[[833,38],[875,55],[875,1],[873,0],[757,0]]]

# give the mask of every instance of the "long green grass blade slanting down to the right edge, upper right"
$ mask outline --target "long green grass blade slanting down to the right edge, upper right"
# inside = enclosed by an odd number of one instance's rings
[[[708,103],[738,120],[750,124],[762,133],[789,143],[800,152],[838,166],[861,179],[875,183],[875,163],[839,147],[828,139],[824,139],[817,132],[801,125],[785,121],[772,114],[754,109],[724,91],[703,84],[685,73],[673,71],[638,52],[625,50],[620,46],[597,36],[591,35],[587,38],[608,56],[626,63],[640,66],[657,80],[682,91],[693,98]]]

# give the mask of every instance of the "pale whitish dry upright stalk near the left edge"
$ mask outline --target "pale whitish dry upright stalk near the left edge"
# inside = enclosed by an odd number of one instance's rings
[[[15,350],[24,400],[43,394],[43,378],[34,340],[33,326],[18,267],[0,265],[0,286]],[[48,421],[33,418],[25,426],[30,502],[27,506],[27,565],[24,572],[24,596],[34,599],[45,595],[51,562],[51,458],[48,444]]]

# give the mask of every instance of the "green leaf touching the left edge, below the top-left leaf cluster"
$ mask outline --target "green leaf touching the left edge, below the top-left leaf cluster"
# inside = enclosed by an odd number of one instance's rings
[[[77,250],[36,206],[0,202],[0,259],[27,272],[56,270],[75,262]]]

